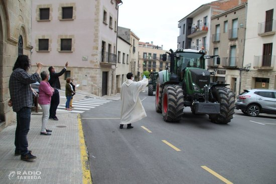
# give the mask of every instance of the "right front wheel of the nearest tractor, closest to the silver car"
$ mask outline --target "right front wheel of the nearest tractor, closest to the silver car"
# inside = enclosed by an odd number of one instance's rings
[[[231,121],[235,109],[235,95],[229,89],[225,87],[215,87],[212,89],[214,96],[213,101],[217,101],[220,104],[220,114],[209,115],[209,119],[213,123],[227,124]]]

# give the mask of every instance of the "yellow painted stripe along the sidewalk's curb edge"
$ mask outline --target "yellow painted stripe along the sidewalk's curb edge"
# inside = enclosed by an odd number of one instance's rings
[[[92,178],[91,178],[90,167],[88,162],[88,155],[86,153],[86,145],[85,145],[84,135],[82,131],[80,114],[78,114],[78,124],[79,124],[79,138],[80,138],[80,160],[82,164],[82,183],[92,184]]]

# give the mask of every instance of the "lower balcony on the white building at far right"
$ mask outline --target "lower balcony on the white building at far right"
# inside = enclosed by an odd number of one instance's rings
[[[275,56],[254,56],[253,68],[258,70],[273,70]]]

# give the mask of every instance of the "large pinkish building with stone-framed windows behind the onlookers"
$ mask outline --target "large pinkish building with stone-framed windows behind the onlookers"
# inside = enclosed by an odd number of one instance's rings
[[[78,89],[115,94],[118,8],[121,0],[32,1],[32,65],[55,66],[74,77]]]

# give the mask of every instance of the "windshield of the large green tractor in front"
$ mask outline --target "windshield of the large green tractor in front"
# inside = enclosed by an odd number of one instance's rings
[[[200,53],[179,53],[177,68],[184,69],[186,67],[205,68],[203,54]]]

